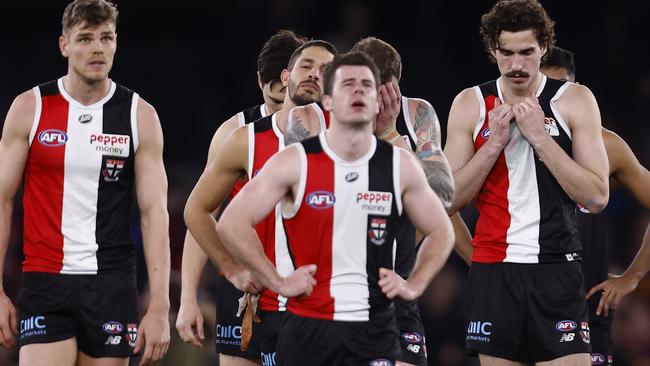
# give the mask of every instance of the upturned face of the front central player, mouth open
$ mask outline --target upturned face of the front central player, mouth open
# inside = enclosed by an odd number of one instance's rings
[[[332,95],[323,100],[340,123],[372,123],[379,113],[377,84],[367,66],[344,65],[334,73]]]

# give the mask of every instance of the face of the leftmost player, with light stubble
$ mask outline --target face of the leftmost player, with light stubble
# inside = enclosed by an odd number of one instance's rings
[[[59,38],[59,48],[68,59],[68,72],[74,72],[87,83],[105,80],[117,50],[115,24],[77,24]]]

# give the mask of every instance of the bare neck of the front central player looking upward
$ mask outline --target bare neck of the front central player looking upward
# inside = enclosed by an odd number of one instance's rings
[[[332,151],[343,160],[359,160],[370,150],[372,123],[344,124],[332,119],[325,138]]]

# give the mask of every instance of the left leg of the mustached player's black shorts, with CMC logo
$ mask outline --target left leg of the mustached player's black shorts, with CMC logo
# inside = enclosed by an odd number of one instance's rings
[[[525,276],[525,265],[472,264],[465,297],[470,354],[525,361]]]

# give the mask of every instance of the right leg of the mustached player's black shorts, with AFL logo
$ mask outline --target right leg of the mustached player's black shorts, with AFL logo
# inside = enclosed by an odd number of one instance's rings
[[[580,263],[538,265],[529,277],[527,335],[530,361],[590,353],[587,301]]]

